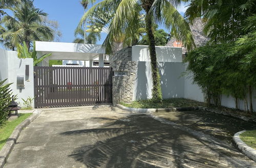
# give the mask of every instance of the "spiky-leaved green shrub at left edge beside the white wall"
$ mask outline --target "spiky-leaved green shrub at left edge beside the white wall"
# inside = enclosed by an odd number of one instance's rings
[[[8,116],[8,106],[12,100],[12,93],[9,86],[12,83],[4,85],[7,79],[0,81],[0,126],[7,119]],[[16,97],[16,96],[15,96]]]

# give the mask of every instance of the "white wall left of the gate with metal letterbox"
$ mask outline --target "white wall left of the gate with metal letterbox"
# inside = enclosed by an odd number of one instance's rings
[[[29,78],[26,80],[25,67],[29,65]],[[17,75],[24,75],[24,87],[17,87]],[[16,51],[6,51],[0,48],[0,79],[8,79],[14,95],[17,95],[19,106],[23,106],[23,99],[34,97],[34,66],[33,59],[18,59]],[[32,103],[34,106],[34,103]]]

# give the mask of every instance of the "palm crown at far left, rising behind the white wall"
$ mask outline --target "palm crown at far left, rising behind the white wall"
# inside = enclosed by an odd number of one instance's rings
[[[6,15],[1,20],[5,27],[12,27],[12,29],[5,31],[0,35],[3,40],[10,40],[12,46],[17,46],[23,41],[26,42],[28,49],[30,49],[31,41],[38,40],[52,40],[53,31],[48,26],[40,23],[40,16],[47,16],[47,13],[36,9],[30,1],[18,4],[11,7],[14,17]]]

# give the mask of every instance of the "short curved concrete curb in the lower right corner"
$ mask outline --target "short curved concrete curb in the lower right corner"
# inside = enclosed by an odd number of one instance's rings
[[[250,159],[253,161],[256,161],[256,150],[249,147],[247,144],[245,144],[241,139],[240,139],[240,134],[244,133],[245,131],[240,131],[234,134],[233,136],[233,141],[237,145],[237,147]]]

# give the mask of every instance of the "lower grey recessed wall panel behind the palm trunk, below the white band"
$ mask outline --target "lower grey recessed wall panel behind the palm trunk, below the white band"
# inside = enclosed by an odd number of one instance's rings
[[[163,98],[184,97],[184,72],[183,63],[158,62],[161,77],[161,89]],[[145,100],[152,98],[153,80],[151,62],[138,62],[136,72],[133,100]]]

